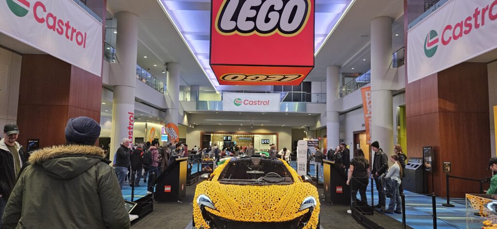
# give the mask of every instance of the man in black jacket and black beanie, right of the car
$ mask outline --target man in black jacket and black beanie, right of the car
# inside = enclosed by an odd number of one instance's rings
[[[381,208],[381,206],[385,205],[386,196],[383,192],[379,177],[388,170],[388,157],[383,153],[383,150],[380,148],[380,144],[377,141],[371,143],[371,149],[375,152],[371,174],[373,175],[374,182],[376,183],[376,190],[378,190],[378,195],[380,196],[378,204],[375,205],[375,207]]]

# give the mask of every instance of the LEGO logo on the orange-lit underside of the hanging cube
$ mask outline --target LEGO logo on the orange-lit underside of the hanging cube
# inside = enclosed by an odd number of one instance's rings
[[[264,74],[225,74],[219,79],[224,81],[245,81],[245,82],[291,82],[304,77],[302,74],[290,74],[290,75],[264,75]]]

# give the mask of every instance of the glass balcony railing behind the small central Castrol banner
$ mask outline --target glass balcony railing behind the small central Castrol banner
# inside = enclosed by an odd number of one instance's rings
[[[221,91],[199,90],[199,91],[180,91],[180,101],[222,101],[223,93],[279,93],[280,102],[299,102],[299,103],[326,103],[326,93],[306,93],[306,92],[272,92],[272,91]]]

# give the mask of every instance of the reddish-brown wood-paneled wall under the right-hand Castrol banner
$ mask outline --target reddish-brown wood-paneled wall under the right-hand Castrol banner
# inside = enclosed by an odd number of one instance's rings
[[[465,62],[406,85],[407,136],[410,157],[422,157],[433,146],[434,191],[445,196],[442,163],[451,175],[481,179],[491,157],[488,73],[486,63]],[[425,185],[431,192],[431,174]],[[478,182],[451,179],[450,194],[477,193]]]

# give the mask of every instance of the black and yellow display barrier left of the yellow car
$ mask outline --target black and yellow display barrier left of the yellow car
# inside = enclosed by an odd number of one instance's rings
[[[186,196],[187,159],[177,158],[157,177],[155,200],[181,201]]]

